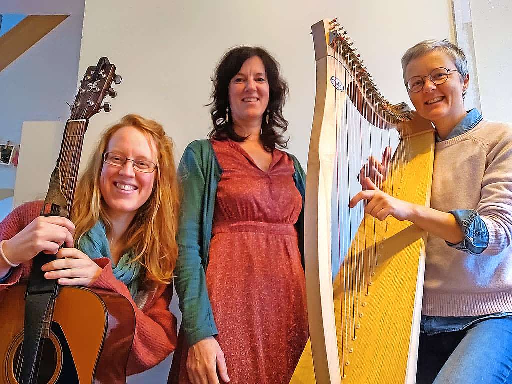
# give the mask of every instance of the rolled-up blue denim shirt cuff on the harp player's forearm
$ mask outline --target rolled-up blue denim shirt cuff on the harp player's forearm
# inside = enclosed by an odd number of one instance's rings
[[[466,237],[458,244],[446,242],[459,251],[480,254],[489,246],[489,231],[481,216],[474,209],[456,209],[449,212],[459,223]]]

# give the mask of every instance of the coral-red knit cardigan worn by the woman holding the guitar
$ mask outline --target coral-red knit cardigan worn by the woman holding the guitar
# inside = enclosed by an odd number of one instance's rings
[[[0,224],[0,241],[11,239],[22,231],[39,216],[41,207],[42,202],[32,202],[12,211]],[[122,294],[130,300],[135,310],[135,339],[130,353],[127,375],[153,368],[176,349],[176,317],[169,312],[169,304],[173,295],[172,287],[160,285],[151,289],[149,295],[144,297],[143,303],[138,303],[142,306],[142,309],[139,309],[128,288],[114,277],[111,261],[103,258],[95,260],[95,262],[103,268],[103,272],[91,288],[108,289]],[[6,288],[28,279],[31,267],[32,262],[29,262],[12,271],[9,279],[0,284],[0,300],[3,300]]]

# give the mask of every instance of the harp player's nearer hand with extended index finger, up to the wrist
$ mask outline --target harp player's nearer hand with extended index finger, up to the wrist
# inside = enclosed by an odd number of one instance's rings
[[[374,218],[384,221],[388,216],[403,221],[410,220],[414,213],[414,205],[387,193],[382,192],[369,178],[363,179],[363,189],[350,200],[349,208],[354,208],[362,200],[366,201],[365,212]]]

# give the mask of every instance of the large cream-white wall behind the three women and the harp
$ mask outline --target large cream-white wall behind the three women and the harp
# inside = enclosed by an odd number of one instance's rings
[[[432,10],[436,17],[431,17]],[[411,15],[415,15],[412,17]],[[419,15],[419,19],[418,19]],[[400,55],[425,38],[451,36],[446,0],[428,4],[381,2],[226,1],[187,2],[88,0],[80,73],[106,55],[124,82],[112,102],[113,112],[91,120],[84,156],[106,125],[127,113],[164,123],[181,156],[194,139],[206,137],[210,76],[230,47],[267,48],[281,63],[290,84],[285,116],[290,121],[290,151],[306,165],[313,115],[315,69],[310,26],[337,16],[353,36],[381,89],[391,101],[406,101],[401,86]]]

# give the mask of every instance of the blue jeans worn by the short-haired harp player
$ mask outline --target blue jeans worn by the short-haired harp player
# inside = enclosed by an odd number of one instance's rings
[[[512,316],[437,331],[420,334],[417,384],[512,383]]]

